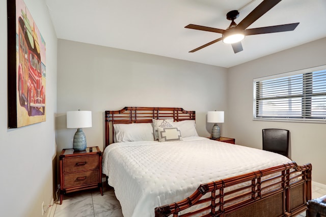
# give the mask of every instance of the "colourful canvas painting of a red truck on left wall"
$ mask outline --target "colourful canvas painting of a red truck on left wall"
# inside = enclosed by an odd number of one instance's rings
[[[23,0],[8,0],[8,128],[46,120],[45,42]]]

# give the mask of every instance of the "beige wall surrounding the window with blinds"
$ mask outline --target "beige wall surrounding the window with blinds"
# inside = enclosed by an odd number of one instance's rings
[[[264,128],[290,131],[290,156],[298,164],[312,163],[312,179],[326,184],[324,154],[326,124],[253,120],[253,79],[326,65],[326,38],[265,56],[228,69],[228,121],[225,131],[236,143],[262,148]]]

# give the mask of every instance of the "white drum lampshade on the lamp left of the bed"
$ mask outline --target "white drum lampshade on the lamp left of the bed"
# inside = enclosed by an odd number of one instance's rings
[[[92,111],[67,111],[67,128],[91,128]]]

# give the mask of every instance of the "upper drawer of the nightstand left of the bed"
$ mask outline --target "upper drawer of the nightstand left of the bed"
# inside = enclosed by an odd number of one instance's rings
[[[63,172],[98,169],[98,155],[63,159]]]

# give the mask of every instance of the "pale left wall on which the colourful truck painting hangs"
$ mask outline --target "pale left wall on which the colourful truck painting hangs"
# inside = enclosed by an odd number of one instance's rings
[[[37,217],[42,216],[42,202],[46,209],[52,199],[52,160],[56,154],[57,37],[45,1],[24,2],[46,42],[46,121],[8,129],[7,1],[0,0],[0,215]]]

